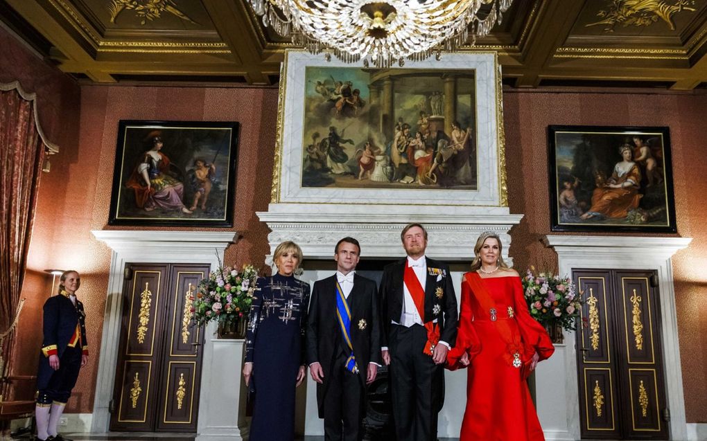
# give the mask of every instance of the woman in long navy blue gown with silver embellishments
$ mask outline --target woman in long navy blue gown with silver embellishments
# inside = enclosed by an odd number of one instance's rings
[[[250,441],[294,440],[295,388],[305,378],[310,286],[294,276],[302,250],[283,242],[273,260],[277,273],[258,279],[245,336],[243,377],[255,390]]]

